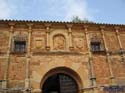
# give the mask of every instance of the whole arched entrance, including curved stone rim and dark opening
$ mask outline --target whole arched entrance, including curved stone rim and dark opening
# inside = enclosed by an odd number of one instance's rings
[[[66,67],[58,67],[45,74],[40,88],[42,93],[79,93],[82,82],[75,71]]]

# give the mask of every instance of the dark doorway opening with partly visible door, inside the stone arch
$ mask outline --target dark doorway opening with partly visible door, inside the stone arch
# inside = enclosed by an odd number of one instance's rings
[[[76,81],[64,73],[49,76],[43,84],[43,93],[78,93]]]

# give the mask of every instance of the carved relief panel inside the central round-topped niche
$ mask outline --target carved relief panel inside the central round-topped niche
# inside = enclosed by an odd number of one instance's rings
[[[53,48],[54,50],[65,50],[66,39],[63,35],[55,35],[53,37]]]

